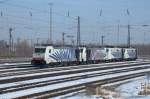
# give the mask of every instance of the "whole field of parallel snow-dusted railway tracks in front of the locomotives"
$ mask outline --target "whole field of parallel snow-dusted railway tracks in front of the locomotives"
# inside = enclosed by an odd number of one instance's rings
[[[0,98],[52,98],[150,72],[149,60],[39,68],[29,63],[0,65]]]

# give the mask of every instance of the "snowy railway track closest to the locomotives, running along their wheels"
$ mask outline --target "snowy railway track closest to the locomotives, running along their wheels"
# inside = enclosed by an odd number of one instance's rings
[[[16,69],[2,69],[0,70],[0,77],[5,76],[15,76],[15,75],[26,75],[26,74],[35,74],[35,73],[46,73],[46,72],[54,72],[54,71],[66,71],[66,70],[87,70],[88,68],[95,69],[109,69],[114,66],[114,68],[119,68],[115,66],[125,66],[125,65],[142,65],[142,64],[149,64],[150,62],[139,62],[139,61],[131,61],[131,62],[117,62],[117,63],[104,63],[104,64],[90,64],[90,65],[80,65],[80,66],[68,66],[68,67],[56,67],[56,68],[44,68],[44,69],[37,69],[37,67],[30,67],[30,68],[17,68]],[[118,64],[118,65],[116,65]],[[73,71],[72,71],[73,72]]]

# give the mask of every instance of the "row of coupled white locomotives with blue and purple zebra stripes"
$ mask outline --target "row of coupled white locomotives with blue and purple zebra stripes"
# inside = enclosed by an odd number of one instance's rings
[[[71,65],[136,59],[135,48],[35,46],[31,63]]]

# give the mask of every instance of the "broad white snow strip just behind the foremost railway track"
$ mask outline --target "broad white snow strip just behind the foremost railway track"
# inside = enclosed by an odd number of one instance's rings
[[[98,76],[98,77],[93,77],[93,78],[68,81],[68,82],[64,82],[64,83],[58,83],[58,84],[47,85],[47,86],[43,86],[43,87],[37,87],[37,88],[31,88],[31,89],[1,94],[0,98],[6,98],[6,99],[18,98],[18,97],[22,97],[22,96],[35,94],[35,93],[52,91],[52,90],[60,89],[60,88],[64,88],[64,87],[72,87],[75,85],[86,84],[86,83],[90,83],[90,82],[94,82],[94,81],[105,80],[105,79],[110,79],[110,78],[120,77],[120,76],[125,76],[125,75],[134,75],[135,73],[144,73],[144,72],[149,72],[149,71],[150,71],[150,69],[143,69],[143,70],[137,70],[137,71],[130,71],[130,72],[126,72],[126,73],[116,73],[116,74],[111,74],[111,75],[104,75],[104,76]]]

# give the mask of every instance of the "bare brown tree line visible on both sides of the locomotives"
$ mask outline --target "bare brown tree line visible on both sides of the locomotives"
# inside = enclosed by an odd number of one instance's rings
[[[137,48],[138,56],[150,56],[150,44],[136,44],[132,46]],[[34,44],[31,44],[28,40],[20,40],[19,42],[14,43],[11,48],[5,40],[0,40],[0,58],[30,58],[32,57],[33,50]]]

